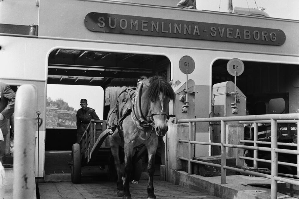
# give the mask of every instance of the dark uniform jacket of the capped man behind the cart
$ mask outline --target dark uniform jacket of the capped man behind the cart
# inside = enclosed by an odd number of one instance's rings
[[[77,117],[77,133],[79,134],[84,133],[91,119],[100,120],[100,118],[95,113],[95,110],[89,107],[87,107],[86,111],[83,111],[82,108],[79,109],[77,111],[76,117]]]

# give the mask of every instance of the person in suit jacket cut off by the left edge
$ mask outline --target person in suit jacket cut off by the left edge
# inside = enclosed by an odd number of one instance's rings
[[[16,93],[8,84],[0,82],[0,128],[4,141],[0,142],[0,161],[5,155],[6,135],[9,129],[9,118],[14,112]]]

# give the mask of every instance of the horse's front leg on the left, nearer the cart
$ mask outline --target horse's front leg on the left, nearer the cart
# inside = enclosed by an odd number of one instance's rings
[[[132,173],[132,143],[126,143],[124,146],[125,151],[125,168],[123,172],[123,199],[131,199],[130,194],[130,176]]]

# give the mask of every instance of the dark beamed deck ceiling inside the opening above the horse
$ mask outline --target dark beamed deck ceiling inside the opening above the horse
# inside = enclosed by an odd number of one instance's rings
[[[99,85],[155,73],[161,55],[56,49],[49,55],[48,84]]]

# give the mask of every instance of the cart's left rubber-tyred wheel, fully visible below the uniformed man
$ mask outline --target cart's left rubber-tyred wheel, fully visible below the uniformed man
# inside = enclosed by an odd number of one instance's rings
[[[72,183],[80,183],[81,178],[81,150],[79,144],[73,144],[71,158],[71,180]]]

